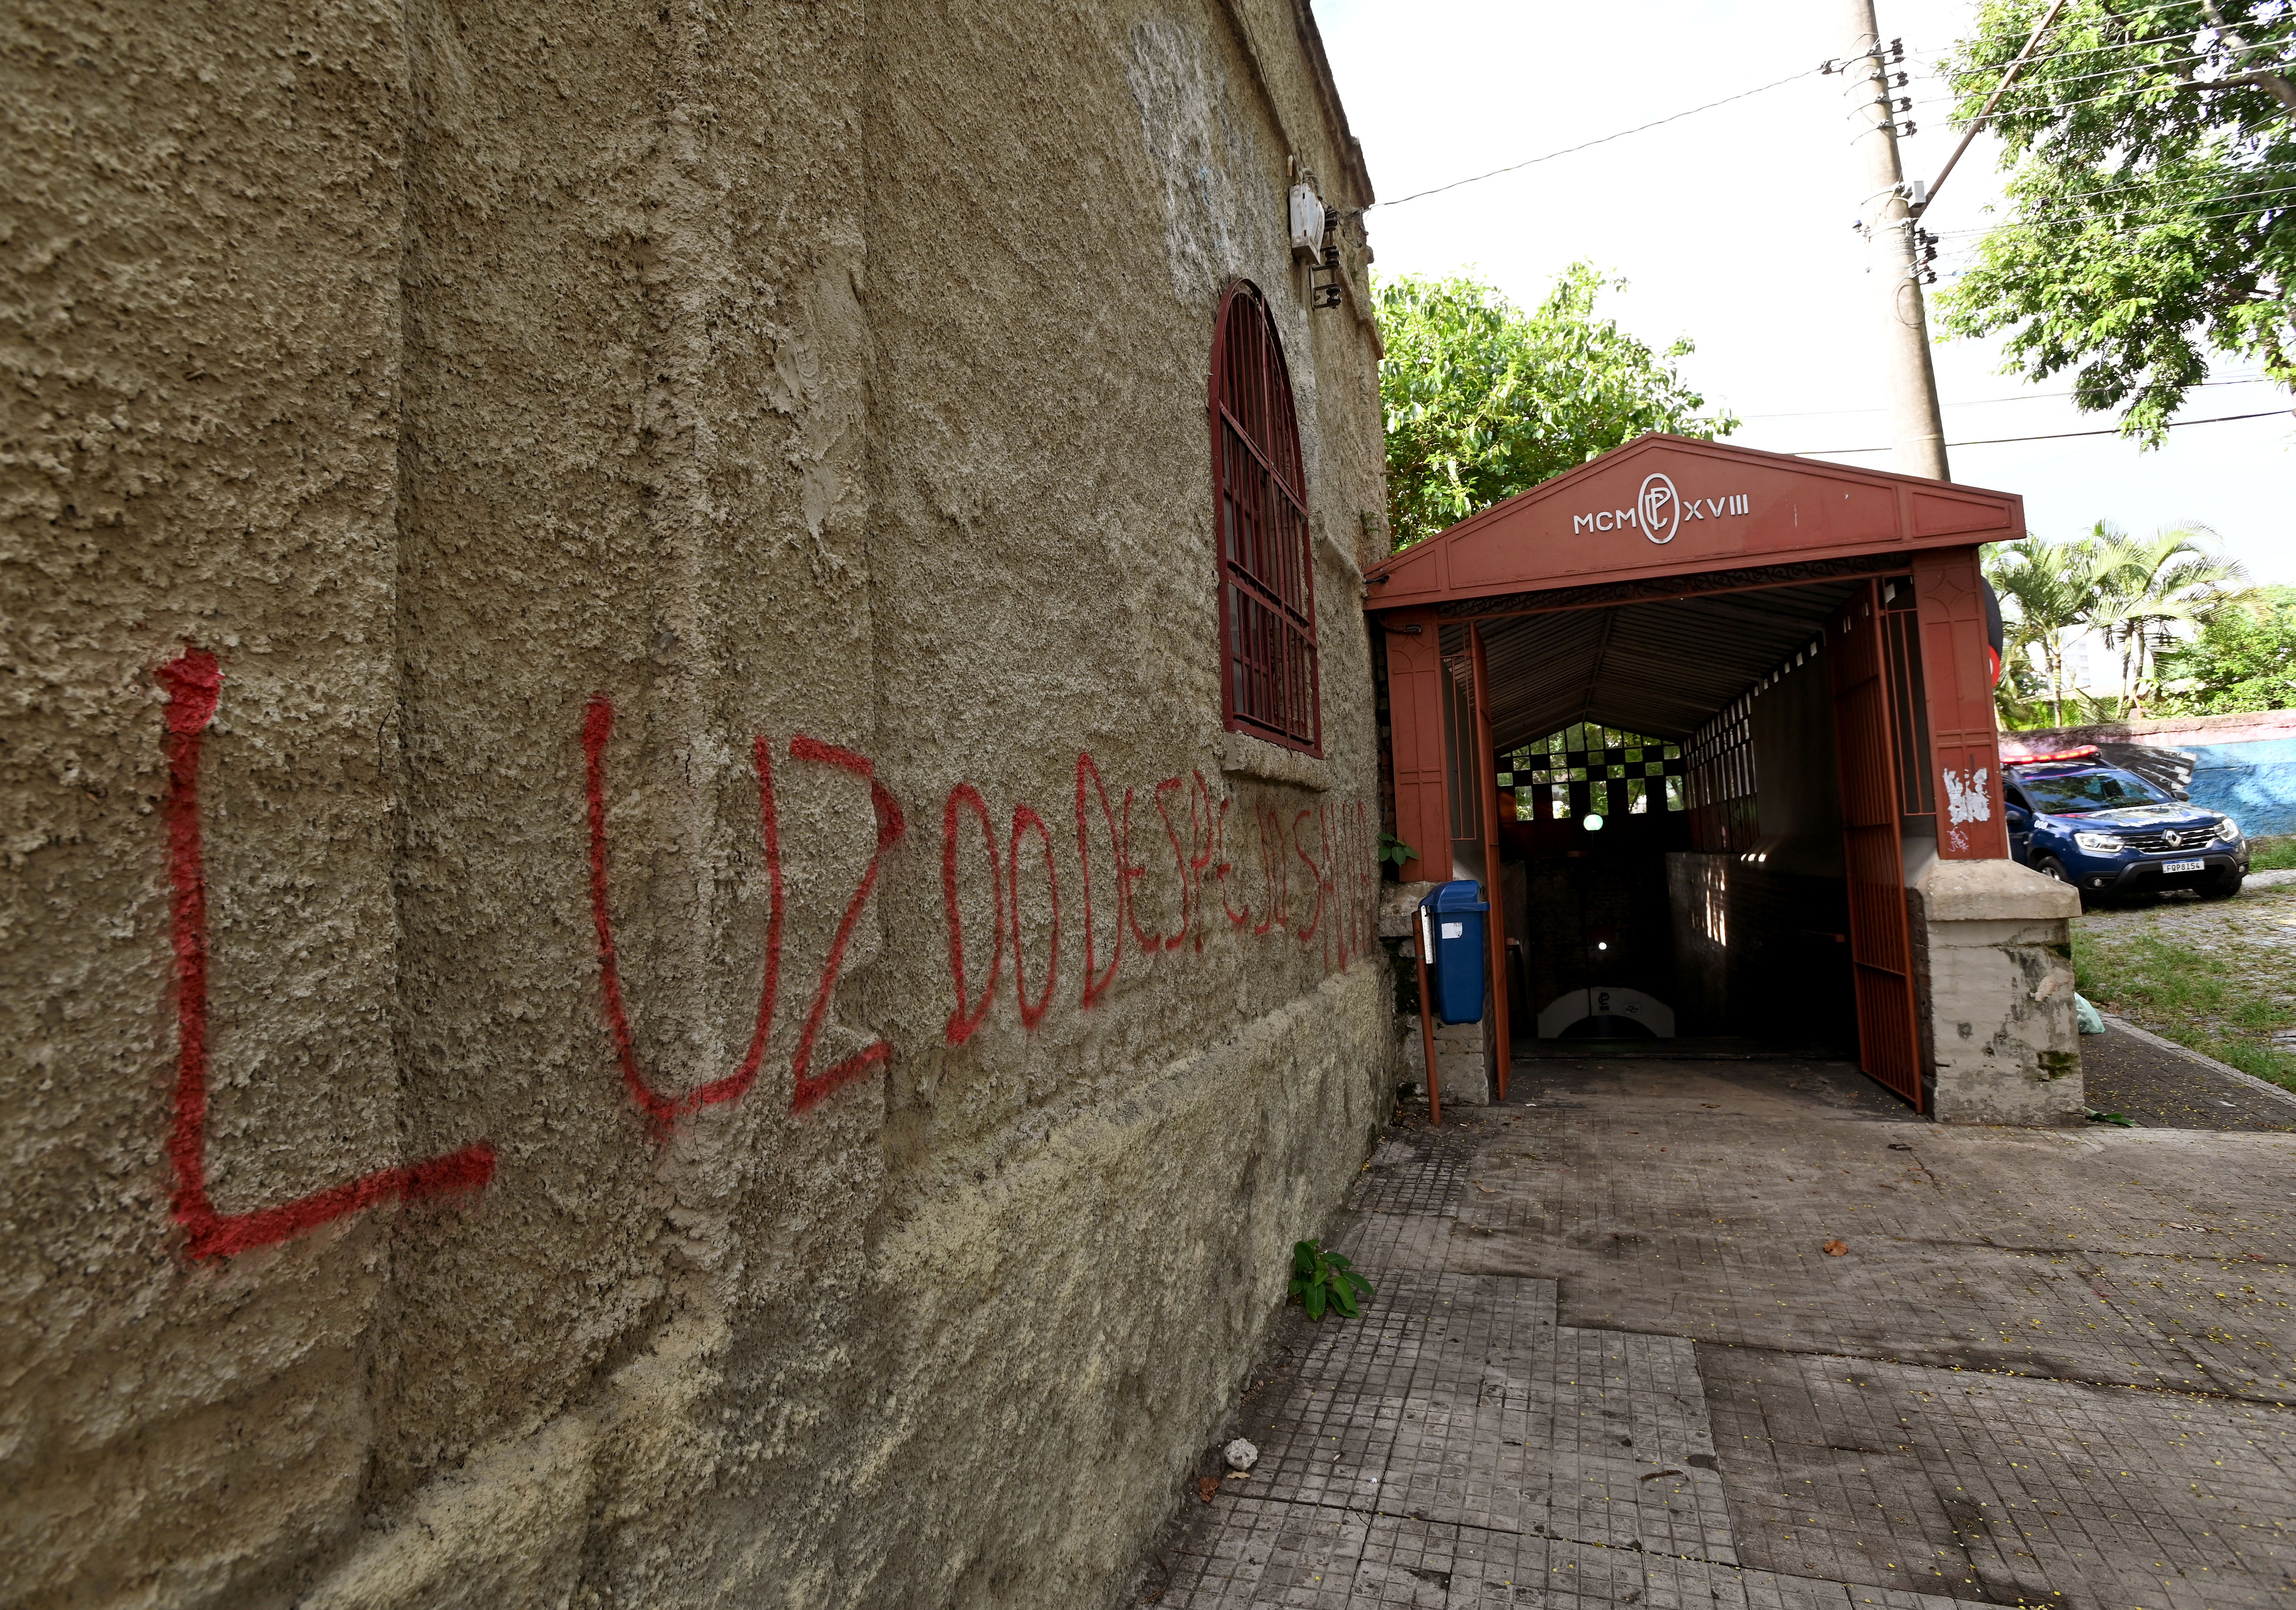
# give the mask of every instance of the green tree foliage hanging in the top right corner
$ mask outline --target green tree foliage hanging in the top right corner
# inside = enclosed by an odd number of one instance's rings
[[[2048,0],[1984,0],[1947,57],[1970,119]],[[2161,443],[2209,354],[2296,390],[2296,7],[2069,0],[1993,115],[2011,214],[1942,301],[2030,379]]]

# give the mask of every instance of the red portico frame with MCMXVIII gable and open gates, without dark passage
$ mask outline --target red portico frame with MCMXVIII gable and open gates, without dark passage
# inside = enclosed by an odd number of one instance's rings
[[[1795,696],[1830,700],[1823,767],[1828,795],[1839,790],[1860,1059],[1919,1105],[1908,854],[1926,866],[1931,845],[1938,859],[2009,852],[1977,560],[1979,544],[2023,535],[2016,494],[1653,434],[1389,558],[1366,576],[1366,609],[1387,661],[1396,836],[1419,850],[1403,875],[1495,875],[1502,841],[1522,850],[1518,822],[1554,829],[1520,804],[1529,790],[1502,790],[1502,758],[1573,721],[1688,751],[1688,820],[1671,825],[1685,852],[1754,854],[1727,756],[1690,740],[1823,659],[1823,691],[1798,678]],[[1665,804],[1683,808],[1671,792]]]

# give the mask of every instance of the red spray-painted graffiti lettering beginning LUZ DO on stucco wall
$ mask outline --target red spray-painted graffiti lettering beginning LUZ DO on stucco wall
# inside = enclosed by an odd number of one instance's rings
[[[207,1093],[209,1093],[209,1020],[207,1020],[207,875],[200,845],[200,749],[223,694],[223,668],[216,657],[200,648],[188,648],[177,659],[158,668],[161,689],[168,694],[163,753],[168,760],[168,792],[163,820],[168,827],[168,882],[170,882],[170,930],[174,944],[174,997],[177,997],[177,1093],[174,1125],[168,1139],[168,1158],[174,1174],[174,1220],[186,1231],[186,1252],[193,1259],[218,1259],[250,1247],[276,1245],[312,1231],[333,1220],[360,1213],[390,1201],[416,1201],[450,1192],[478,1192],[494,1181],[496,1153],[487,1141],[461,1151],[429,1158],[418,1164],[379,1169],[358,1178],[331,1185],[250,1213],[216,1213],[207,1197]],[[657,1139],[668,1139],[677,1125],[705,1107],[739,1102],[765,1066],[765,1052],[778,1011],[781,962],[785,935],[785,884],[781,822],[774,792],[774,744],[758,735],[751,742],[751,767],[758,776],[758,834],[765,850],[769,914],[762,937],[758,1015],[748,1047],[732,1073],[670,1096],[645,1073],[638,1056],[629,1008],[622,994],[622,967],[608,912],[608,834],[606,834],[606,751],[613,740],[613,700],[592,696],[581,726],[583,740],[583,795],[588,806],[588,893],[597,939],[599,994],[606,1020],[606,1036],[620,1066],[622,1089],[645,1119]],[[893,792],[877,779],[875,763],[852,749],[827,744],[815,737],[794,735],[788,744],[792,763],[822,765],[845,772],[868,785],[870,811],[877,820],[877,841],[866,870],[859,877],[836,932],[829,942],[810,1008],[799,1029],[797,1047],[790,1056],[790,1102],[792,1114],[804,1114],[836,1093],[840,1086],[861,1079],[893,1056],[893,1045],[884,1038],[870,1040],[861,1052],[840,1059],[831,1068],[813,1070],[813,1052],[829,1017],[831,997],[845,967],[845,953],[854,928],[868,907],[870,893],[886,868],[886,857],[907,834],[907,818]],[[1176,795],[1187,792],[1187,843],[1180,843],[1180,827],[1171,813]],[[1141,958],[1169,955],[1189,949],[1203,953],[1210,928],[1208,912],[1217,887],[1219,912],[1231,930],[1251,937],[1283,935],[1300,946],[1316,946],[1325,972],[1343,972],[1371,946],[1373,898],[1378,889],[1378,864],[1371,857],[1368,818],[1362,804],[1313,806],[1295,811],[1286,829],[1283,815],[1272,808],[1254,813],[1256,852],[1261,866],[1261,912],[1254,921],[1251,905],[1235,910],[1231,889],[1235,864],[1228,852],[1228,813],[1233,797],[1215,797],[1201,772],[1169,776],[1148,792],[1164,843],[1171,852],[1173,903],[1178,926],[1171,932],[1150,932],[1141,926],[1141,900],[1137,887],[1153,875],[1132,854],[1134,790],[1123,792],[1116,804],[1100,767],[1088,753],[1077,756],[1077,857],[1084,900],[1084,983],[1077,992],[1077,1008],[1095,1008],[1114,988],[1125,962],[1127,939]],[[1095,822],[1097,815],[1097,822]],[[1313,829],[1309,827],[1313,822]],[[967,829],[976,831],[967,831]],[[1097,827],[1097,831],[1093,831]],[[1042,889],[1049,932],[1042,953],[1042,985],[1031,999],[1029,953],[1022,921],[1022,866],[1029,841],[1042,854]],[[1095,854],[1095,841],[1100,841]],[[987,864],[985,884],[992,898],[992,921],[985,942],[976,935],[967,944],[967,919],[960,898],[960,873],[967,845],[978,845],[978,857]],[[1313,847],[1311,847],[1313,843]],[[1095,912],[1093,884],[1095,859],[1102,896],[1114,903],[1114,914]],[[1293,910],[1293,868],[1304,868],[1300,900],[1309,903],[1306,921]],[[967,1045],[994,1015],[996,983],[1003,974],[1006,951],[1013,958],[1013,1006],[1024,1031],[1035,1031],[1052,1011],[1061,967],[1061,873],[1054,857],[1052,831],[1035,806],[1015,802],[1003,854],[999,854],[996,818],[987,799],[974,783],[951,788],[941,811],[941,893],[948,923],[948,985],[953,1006],[944,1027],[944,1043]],[[1109,937],[1100,946],[1102,930]],[[987,972],[976,974],[967,955],[987,955]],[[1102,960],[1102,955],[1107,960]],[[978,976],[978,992],[974,978]]]

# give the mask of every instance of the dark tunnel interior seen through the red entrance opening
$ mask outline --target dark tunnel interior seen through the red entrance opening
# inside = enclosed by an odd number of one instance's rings
[[[1518,1056],[1857,1054],[1825,622],[1864,586],[1481,622],[1497,774],[1451,790],[1451,864],[1502,903]],[[1444,659],[1460,765],[1465,627]]]

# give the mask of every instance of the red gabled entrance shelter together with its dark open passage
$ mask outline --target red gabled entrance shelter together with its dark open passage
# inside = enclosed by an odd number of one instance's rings
[[[1853,1052],[1926,1107],[1915,891],[2009,852],[1977,560],[2023,531],[1642,436],[1366,572],[1389,831],[1490,889],[1495,1038]]]

